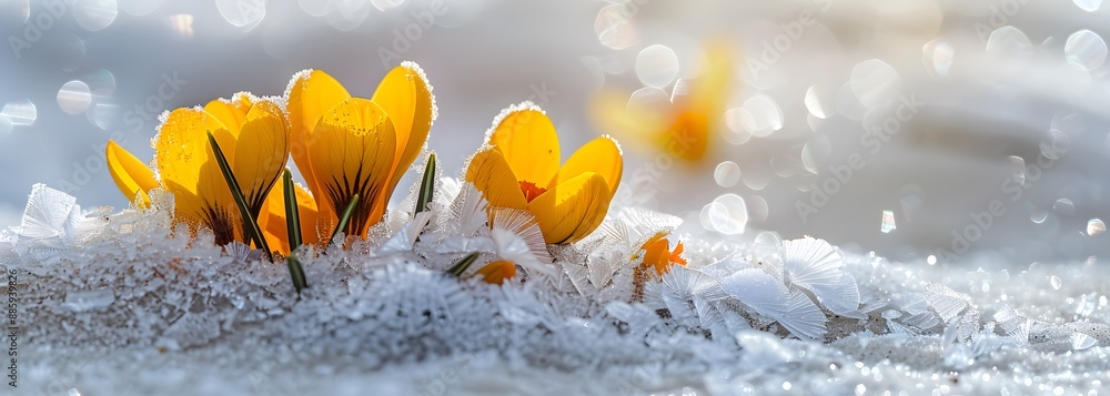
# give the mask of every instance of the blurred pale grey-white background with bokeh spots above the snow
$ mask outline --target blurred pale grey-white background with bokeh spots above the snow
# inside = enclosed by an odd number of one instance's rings
[[[522,100],[564,158],[619,136],[588,116],[598,90],[669,94],[726,38],[737,79],[707,158],[625,152],[624,187],[684,231],[1094,264],[1110,253],[1108,21],[1100,0],[0,0],[0,226],[34,183],[125,205],[109,138],[150,159],[161,111],[280,95],[302,69],[369,97],[420,63],[453,175]]]

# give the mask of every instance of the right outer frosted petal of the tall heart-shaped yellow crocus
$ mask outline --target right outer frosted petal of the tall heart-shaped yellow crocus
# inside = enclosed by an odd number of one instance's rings
[[[427,141],[427,132],[432,128],[435,114],[435,98],[432,97],[430,87],[424,78],[424,71],[416,63],[404,62],[385,74],[371,99],[390,114],[393,129],[397,133],[394,173],[390,177],[386,197],[381,201],[382,204],[389,204],[393,190]]]

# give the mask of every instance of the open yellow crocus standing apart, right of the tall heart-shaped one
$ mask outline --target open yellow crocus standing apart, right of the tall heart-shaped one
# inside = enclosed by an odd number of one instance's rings
[[[562,167],[561,159],[555,125],[524,102],[494,120],[486,145],[471,158],[466,181],[492,206],[535,215],[547,243],[574,243],[602,224],[624,164],[609,136],[586,143]]]

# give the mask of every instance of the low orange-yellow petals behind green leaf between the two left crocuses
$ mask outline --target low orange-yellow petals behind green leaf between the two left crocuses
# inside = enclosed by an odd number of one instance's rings
[[[320,213],[316,211],[316,202],[305,187],[300,184],[293,184],[293,187],[296,190],[296,207],[301,216],[301,243],[309,245],[320,243]],[[289,226],[285,223],[285,195],[282,189],[270,191],[259,215],[259,227],[270,243],[270,248],[289,255]]]

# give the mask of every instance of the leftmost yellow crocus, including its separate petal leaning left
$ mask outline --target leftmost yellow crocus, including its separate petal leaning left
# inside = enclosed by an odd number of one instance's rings
[[[135,185],[147,191],[162,186],[174,196],[175,221],[211,229],[220,245],[244,241],[244,220],[216,164],[209,133],[220,143],[251,214],[258,217],[292,144],[289,121],[273,101],[239,93],[204,108],[170,112],[152,142],[159,179],[154,185],[147,179],[150,169],[114,142],[109,142],[108,167],[124,195],[134,196]]]

